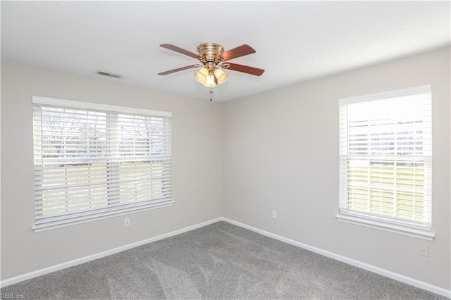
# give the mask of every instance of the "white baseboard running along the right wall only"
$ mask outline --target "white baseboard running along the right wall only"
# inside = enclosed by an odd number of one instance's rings
[[[306,249],[306,250],[312,251],[312,252],[317,253],[317,254],[321,254],[322,256],[326,256],[328,258],[333,258],[333,259],[335,259],[337,261],[342,261],[343,263],[354,265],[354,266],[356,266],[358,268],[362,268],[364,270],[369,270],[370,272],[373,272],[373,273],[376,273],[376,274],[379,274],[379,275],[383,275],[383,276],[391,278],[393,280],[404,282],[407,285],[412,285],[414,287],[419,287],[420,289],[425,289],[426,291],[433,292],[435,294],[439,294],[441,296],[445,296],[445,297],[451,298],[451,291],[448,290],[448,289],[443,289],[442,287],[436,287],[435,285],[430,285],[430,284],[428,284],[426,282],[422,282],[420,280],[416,280],[416,279],[411,278],[411,277],[407,277],[407,276],[404,276],[404,275],[401,275],[401,274],[397,274],[397,273],[391,272],[389,270],[385,270],[383,268],[378,268],[378,267],[376,267],[374,265],[369,265],[368,263],[362,263],[362,261],[356,261],[356,260],[354,260],[352,258],[348,258],[346,256],[341,256],[339,254],[335,254],[335,253],[332,253],[332,252],[329,252],[329,251],[326,251],[326,250],[323,250],[323,249],[320,249],[320,248],[316,248],[314,246],[309,246],[307,244],[303,244],[301,242],[297,242],[297,241],[295,241],[293,239],[288,239],[286,237],[281,237],[280,235],[275,235],[275,234],[273,234],[271,232],[260,230],[258,228],[255,228],[255,227],[252,227],[252,226],[249,226],[249,225],[246,225],[246,224],[234,221],[234,220],[230,220],[228,218],[220,218],[220,219],[224,220],[224,221],[226,221],[226,222],[228,222],[230,224],[243,227],[243,228],[245,228],[247,230],[252,230],[252,231],[257,232],[257,233],[259,233],[261,235],[265,235],[266,237],[272,237],[273,239],[278,239],[280,242],[285,242],[287,244],[292,244],[294,246],[298,246],[299,248]]]

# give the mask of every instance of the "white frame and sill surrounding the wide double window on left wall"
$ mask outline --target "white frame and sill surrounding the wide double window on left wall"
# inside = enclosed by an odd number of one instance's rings
[[[44,230],[51,230],[59,227],[66,227],[69,225],[75,225],[79,223],[86,223],[91,222],[94,220],[102,220],[105,218],[112,218],[118,215],[125,215],[132,212],[138,212],[138,211],[147,211],[149,209],[155,209],[155,208],[163,208],[167,206],[171,206],[175,203],[173,201],[171,196],[171,118],[172,113],[167,111],[153,111],[149,109],[144,108],[132,108],[132,107],[125,107],[125,106],[113,106],[109,104],[98,104],[98,103],[91,103],[91,102],[84,102],[84,101],[73,101],[73,100],[66,100],[66,99],[54,99],[49,97],[42,97],[42,96],[32,96],[32,105],[33,105],[33,135],[36,135],[36,132],[41,132],[42,134],[42,120],[40,119],[40,115],[36,115],[36,110],[38,108],[35,108],[35,106],[47,106],[47,107],[55,107],[55,108],[66,108],[66,109],[74,109],[74,110],[85,110],[85,111],[95,111],[95,112],[105,112],[106,115],[114,115],[116,114],[116,118],[119,119],[119,115],[130,115],[130,116],[148,116],[148,117],[157,117],[161,118],[161,120],[164,120],[165,122],[165,142],[163,142],[163,147],[166,147],[166,152],[164,155],[161,156],[160,159],[156,159],[157,161],[163,161],[165,165],[168,165],[168,180],[166,180],[165,184],[168,183],[168,192],[163,196],[163,199],[149,199],[149,200],[142,200],[142,201],[128,201],[125,204],[121,204],[123,200],[116,200],[116,205],[111,205],[111,198],[110,196],[106,196],[106,203],[107,206],[102,206],[101,208],[88,208],[85,210],[80,210],[80,212],[73,212],[69,213],[67,215],[63,214],[56,214],[56,215],[50,215],[48,218],[42,218],[40,220],[35,217],[35,224],[32,226],[32,230],[35,232],[41,232]],[[41,113],[42,115],[42,113]],[[134,117],[135,118],[135,117]],[[36,120],[37,119],[37,120]],[[108,118],[106,118],[108,119]],[[133,123],[135,124],[135,123]],[[105,120],[105,126],[109,127],[109,129],[105,129],[106,132],[108,130],[117,130],[118,128],[111,127],[110,120]],[[39,127],[39,129],[38,129]],[[108,134],[106,134],[108,135]],[[34,137],[33,138],[33,155],[35,157],[34,159],[34,170],[35,170],[35,195],[39,194],[37,192],[38,190],[42,189],[42,185],[39,187],[37,182],[39,183],[39,168],[44,168],[44,163],[42,161],[42,137],[41,141],[39,142],[39,138]],[[106,138],[105,144],[109,144],[109,139]],[[116,142],[118,143],[118,142]],[[111,146],[106,146],[106,151],[111,151]],[[41,162],[39,163],[39,157]],[[147,161],[141,161],[141,164],[147,165],[147,163],[151,163]],[[108,165],[108,159],[106,159],[106,165]],[[135,161],[134,159],[127,159],[127,161]],[[38,162],[38,163],[37,163]],[[135,161],[135,164],[140,163],[139,161]],[[65,165],[59,165],[61,168],[66,168]],[[166,168],[166,167],[165,167]],[[108,166],[106,167],[107,172]],[[42,172],[42,171],[41,171]],[[166,171],[167,172],[167,171]],[[152,171],[153,173],[153,171]],[[121,177],[121,175],[118,175]],[[152,175],[151,175],[152,177]],[[166,178],[166,177],[165,177]],[[152,177],[153,180],[153,177]],[[89,180],[87,180],[89,181]],[[43,182],[41,180],[40,182]],[[118,185],[115,183],[114,185]],[[107,183],[107,186],[109,186],[109,183]],[[117,188],[116,188],[117,189]],[[108,188],[107,188],[108,190]],[[165,189],[166,192],[166,189]],[[109,194],[107,192],[106,194]],[[39,196],[39,195],[38,195]],[[38,208],[37,206],[37,196],[35,196],[35,215],[37,216]]]

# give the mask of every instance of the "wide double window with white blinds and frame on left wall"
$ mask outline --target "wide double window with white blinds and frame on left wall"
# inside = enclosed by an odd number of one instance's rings
[[[35,232],[173,204],[171,113],[32,101]]]

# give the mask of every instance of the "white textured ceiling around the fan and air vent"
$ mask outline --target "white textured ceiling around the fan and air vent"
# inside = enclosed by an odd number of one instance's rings
[[[215,101],[258,94],[450,44],[450,1],[1,1],[1,56],[104,80],[209,99],[192,52],[204,42],[257,53],[230,62]],[[123,75],[115,80],[97,70]]]

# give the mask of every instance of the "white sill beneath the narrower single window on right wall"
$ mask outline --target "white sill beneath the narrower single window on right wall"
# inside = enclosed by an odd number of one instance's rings
[[[335,215],[335,218],[337,218],[340,222],[394,232],[400,235],[407,235],[409,237],[417,237],[419,239],[428,239],[429,241],[433,240],[435,237],[435,233],[428,228],[414,225],[399,225],[385,220],[366,217],[364,215],[361,216],[350,213],[338,213]]]

